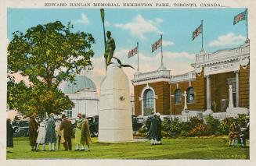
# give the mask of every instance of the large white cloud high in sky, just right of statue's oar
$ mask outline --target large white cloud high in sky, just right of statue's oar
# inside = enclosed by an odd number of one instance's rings
[[[162,23],[163,19],[157,18],[154,20],[144,19],[142,15],[135,16],[129,23],[115,23],[114,26],[121,28],[122,30],[128,30],[133,36],[139,37],[141,39],[146,39],[145,34],[157,33],[163,34],[158,29],[158,24]]]

